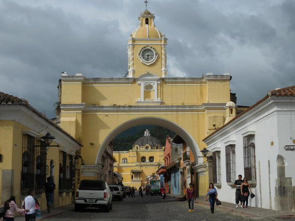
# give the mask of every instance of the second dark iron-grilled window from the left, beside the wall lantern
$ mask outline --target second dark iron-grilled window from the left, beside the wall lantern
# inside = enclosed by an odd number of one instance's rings
[[[46,146],[45,142],[39,140],[38,147],[35,147],[35,162],[36,162],[36,189],[42,189],[46,182]]]

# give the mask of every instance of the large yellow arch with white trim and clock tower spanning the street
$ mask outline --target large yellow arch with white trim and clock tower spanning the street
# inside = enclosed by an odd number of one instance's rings
[[[148,10],[141,13],[139,27],[127,40],[126,77],[61,74],[60,126],[83,142],[83,179],[97,178],[104,150],[122,131],[143,124],[166,127],[183,138],[199,160],[196,172],[202,195],[208,184],[203,158],[198,158],[206,146],[202,139],[225,122],[231,76],[168,77],[167,38],[154,19]]]

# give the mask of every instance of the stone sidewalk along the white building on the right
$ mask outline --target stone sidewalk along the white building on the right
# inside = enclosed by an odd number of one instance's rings
[[[181,195],[174,195],[170,193],[166,193],[166,195],[169,197],[178,198],[178,199],[182,197]],[[200,203],[207,206],[210,205],[208,201],[205,201],[205,196],[204,198],[203,197],[197,198],[195,203]],[[293,211],[277,211],[277,210],[269,210],[269,209],[264,209],[259,207],[249,207],[249,209],[243,209],[241,207],[236,208],[235,203],[229,203],[229,202],[223,202],[223,201],[221,201],[220,206],[216,206],[216,207],[222,208],[228,211],[235,211],[242,214],[247,214],[254,217],[268,218],[269,220],[277,220],[277,219],[280,219],[280,220],[294,219],[295,220],[295,212]]]

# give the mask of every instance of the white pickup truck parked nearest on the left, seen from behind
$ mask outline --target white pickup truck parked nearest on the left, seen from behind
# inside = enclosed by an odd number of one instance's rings
[[[112,193],[105,181],[81,181],[76,192],[75,211],[80,211],[86,207],[102,208],[105,212],[112,210]]]

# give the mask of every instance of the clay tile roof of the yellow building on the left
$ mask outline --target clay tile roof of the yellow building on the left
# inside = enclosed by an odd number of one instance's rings
[[[46,120],[48,123],[53,125],[56,129],[61,131],[63,134],[74,140],[78,145],[83,146],[80,142],[78,142],[75,138],[73,138],[70,134],[68,134],[66,131],[64,131],[61,127],[56,125],[52,120],[47,118],[43,113],[37,111],[32,106],[29,105],[29,102],[23,98],[18,98],[15,96],[12,96],[10,94],[5,94],[3,92],[0,92],[0,105],[21,105],[27,107],[30,111],[33,111],[36,113],[39,117]]]

